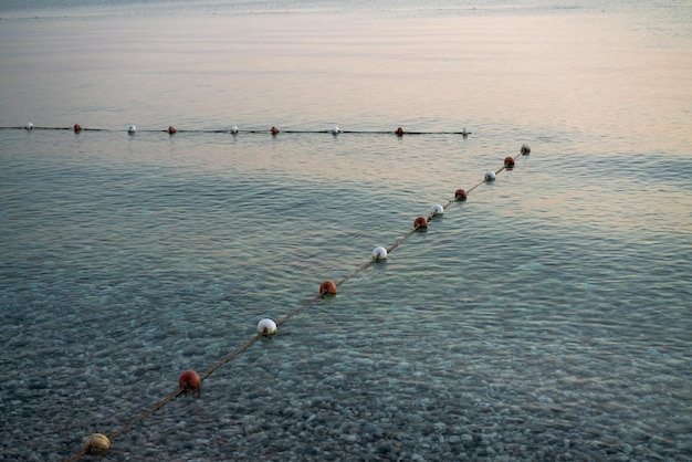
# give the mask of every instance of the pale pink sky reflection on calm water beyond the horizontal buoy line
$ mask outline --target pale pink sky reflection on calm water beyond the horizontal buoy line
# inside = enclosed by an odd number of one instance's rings
[[[606,136],[620,150],[690,145],[689,46],[651,43],[629,17],[106,17],[3,30],[4,126],[525,130],[549,120],[585,147]]]

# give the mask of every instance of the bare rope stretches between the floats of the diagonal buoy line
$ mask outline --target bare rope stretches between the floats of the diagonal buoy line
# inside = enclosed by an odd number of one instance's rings
[[[1,129],[2,127],[0,127]],[[63,128],[60,128],[63,129]],[[388,132],[387,132],[388,133]],[[520,156],[522,156],[522,153],[520,153],[518,155],[516,155],[514,157],[514,160],[516,160]],[[502,168],[500,168],[495,175],[502,172],[503,170],[507,169],[506,165],[503,166]],[[474,189],[476,189],[479,186],[483,185],[484,182],[486,182],[486,180],[480,181],[476,185],[474,185],[471,189],[469,189],[466,191],[466,196],[473,191]],[[450,200],[449,202],[447,202],[447,204],[443,207],[444,209],[447,209],[449,206],[451,206],[454,202],[458,202],[459,200],[457,198]],[[436,217],[436,213],[430,213],[428,216],[428,221],[431,221],[433,218]],[[403,241],[406,241],[408,238],[410,238],[416,231],[418,231],[420,229],[419,225],[413,225],[412,229],[410,229],[406,234],[403,234],[401,238],[399,238],[399,240],[397,240],[397,242],[395,242],[390,248],[387,249],[387,253],[391,253],[391,251],[394,251],[396,248],[398,248]],[[337,283],[335,283],[337,286],[340,286],[343,284],[345,284],[348,280],[350,280],[352,277],[354,277],[356,274],[367,270],[368,267],[370,267],[374,263],[376,262],[375,259],[369,260],[368,262],[366,262],[365,264],[363,264],[361,266],[357,267],[356,270],[354,270],[350,274],[346,275],[344,279],[342,279],[340,281],[338,281]],[[296,308],[294,308],[292,312],[290,312],[287,315],[285,315],[283,318],[279,319],[275,324],[276,325],[282,325],[285,322],[287,322],[289,319],[291,319],[292,317],[294,317],[295,315],[297,315],[298,313],[301,313],[303,309],[307,308],[308,306],[312,306],[313,304],[315,304],[317,301],[322,300],[325,296],[326,292],[322,292],[317,295],[315,295],[314,297],[303,302],[303,304],[298,305]],[[227,356],[224,356],[223,358],[221,358],[219,361],[217,361],[214,365],[212,365],[211,367],[209,367],[207,370],[205,370],[200,377],[203,379],[206,379],[207,377],[209,377],[214,370],[217,370],[218,368],[220,368],[221,366],[223,366],[224,364],[227,364],[228,361],[230,361],[231,359],[233,359],[234,357],[237,357],[238,355],[240,355],[241,353],[243,353],[244,350],[247,350],[248,348],[250,348],[252,345],[254,345],[260,338],[262,337],[261,334],[255,334],[251,339],[249,339],[248,342],[245,342],[242,346],[240,346],[239,348],[237,348],[235,350],[229,353]],[[120,428],[119,430],[117,430],[116,432],[109,434],[107,438],[108,440],[113,440],[126,432],[128,432],[129,430],[132,430],[133,427],[135,427],[137,423],[139,423],[140,421],[143,421],[144,419],[146,419],[147,417],[151,416],[154,412],[158,411],[160,408],[162,408],[164,406],[166,406],[167,403],[169,403],[170,401],[175,400],[178,396],[180,396],[182,392],[185,391],[184,388],[178,387],[175,391],[172,391],[170,395],[168,395],[166,398],[161,399],[160,401],[158,401],[156,405],[151,406],[149,409],[147,409],[146,411],[144,411],[140,416],[132,419],[129,422],[127,422],[125,426],[123,426],[123,428]],[[82,451],[77,452],[76,454],[70,456],[69,459],[65,460],[65,462],[74,462],[78,459],[81,459],[84,455],[87,455],[88,451],[87,449],[83,449]]]

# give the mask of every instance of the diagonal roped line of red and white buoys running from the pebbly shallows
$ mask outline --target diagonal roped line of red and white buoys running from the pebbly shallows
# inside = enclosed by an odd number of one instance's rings
[[[432,204],[429,213],[427,216],[417,217],[413,220],[412,228],[409,229],[401,238],[399,238],[389,248],[385,248],[381,245],[376,246],[371,252],[371,258],[366,263],[364,263],[361,266],[354,270],[350,274],[346,275],[340,281],[335,282],[332,280],[326,280],[322,282],[322,284],[319,285],[319,291],[313,297],[303,302],[301,305],[295,307],[292,312],[290,312],[284,317],[275,322],[270,318],[260,319],[256,326],[256,334],[252,336],[250,339],[248,339],[243,345],[241,345],[240,347],[235,348],[233,351],[226,355],[223,358],[221,358],[219,361],[213,364],[202,374],[198,374],[195,370],[186,370],[185,372],[182,372],[182,375],[178,379],[178,387],[170,395],[168,395],[167,397],[158,401],[156,405],[151,406],[141,414],[132,419],[129,422],[127,422],[125,426],[123,426],[119,430],[115,431],[114,433],[111,433],[108,435],[103,434],[103,433],[92,433],[91,435],[86,437],[84,439],[82,450],[77,452],[76,454],[70,456],[65,461],[66,462],[76,461],[77,459],[81,459],[84,455],[105,454],[111,449],[111,443],[115,438],[122,435],[123,433],[128,432],[133,427],[135,427],[141,420],[153,414],[154,412],[158,411],[168,402],[175,400],[178,396],[185,392],[199,393],[200,388],[202,386],[202,381],[207,379],[207,377],[209,377],[214,370],[217,370],[218,368],[220,368],[226,363],[230,361],[231,359],[233,359],[241,353],[245,351],[248,348],[254,345],[260,338],[276,335],[279,330],[277,326],[284,324],[285,322],[287,322],[289,319],[291,319],[292,317],[294,317],[295,315],[297,315],[298,313],[301,313],[308,306],[315,304],[317,301],[323,300],[327,296],[335,296],[340,285],[346,283],[348,280],[350,280],[352,277],[354,277],[361,271],[367,270],[374,264],[379,264],[381,262],[387,261],[387,259],[389,258],[389,254],[395,249],[397,249],[399,245],[401,245],[401,243],[403,243],[407,239],[413,235],[413,233],[426,231],[430,222],[433,221],[436,217],[442,216],[444,213],[444,210],[448,209],[451,204],[453,204],[454,202],[465,201],[471,191],[475,190],[478,187],[480,187],[481,185],[485,182],[494,181],[496,176],[503,170],[512,170],[514,168],[515,160],[520,156],[527,156],[528,154],[531,154],[531,147],[528,147],[528,145],[526,144],[523,144],[520,149],[520,154],[517,154],[514,157],[512,156],[505,157],[504,164],[500,169],[486,170],[483,176],[483,179],[479,181],[478,183],[473,185],[468,190],[457,189],[454,191],[454,198],[450,199],[445,204],[441,204],[441,203]]]

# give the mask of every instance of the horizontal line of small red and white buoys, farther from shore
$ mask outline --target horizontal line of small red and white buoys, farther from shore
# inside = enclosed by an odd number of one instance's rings
[[[18,130],[28,130],[28,132],[32,132],[32,130],[71,130],[74,132],[75,134],[81,134],[83,132],[112,132],[112,133],[117,133],[117,132],[125,132],[129,135],[134,135],[136,133],[167,133],[168,135],[176,135],[176,134],[184,134],[184,133],[209,133],[209,134],[230,134],[230,135],[240,135],[240,134],[270,134],[272,136],[276,136],[279,134],[285,133],[285,134],[332,134],[334,136],[337,136],[339,134],[354,134],[354,135],[396,135],[398,137],[402,137],[403,135],[461,135],[464,138],[469,135],[471,135],[471,132],[466,130],[466,127],[464,127],[462,130],[460,132],[405,132],[403,128],[398,127],[395,130],[343,130],[340,129],[338,126],[333,126],[329,129],[324,129],[324,130],[310,130],[310,129],[305,129],[305,130],[292,130],[292,129],[285,129],[285,130],[281,130],[279,129],[276,126],[272,126],[271,128],[268,129],[256,129],[256,128],[247,128],[247,129],[240,129],[238,128],[237,125],[233,125],[229,128],[220,128],[220,129],[178,129],[175,126],[170,125],[168,128],[162,128],[162,129],[137,129],[136,125],[128,125],[127,127],[125,127],[124,129],[113,129],[113,128],[88,128],[88,127],[83,127],[80,124],[74,124],[72,127],[38,127],[35,125],[33,125],[31,122],[27,123],[23,127],[0,127],[0,129],[7,129],[7,130],[11,130],[11,129],[18,129]]]

